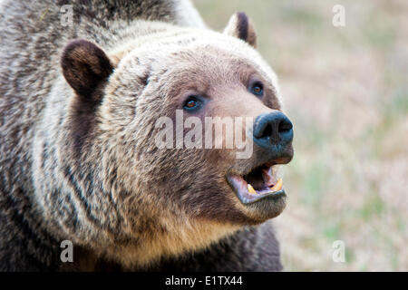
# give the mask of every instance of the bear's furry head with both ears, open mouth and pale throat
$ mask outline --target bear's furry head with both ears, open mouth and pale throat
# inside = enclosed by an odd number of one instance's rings
[[[106,52],[74,40],[62,56],[73,89],[63,170],[86,200],[81,230],[65,232],[125,264],[277,217],[286,205],[277,169],[293,157],[277,77],[246,14],[223,34],[157,25]]]

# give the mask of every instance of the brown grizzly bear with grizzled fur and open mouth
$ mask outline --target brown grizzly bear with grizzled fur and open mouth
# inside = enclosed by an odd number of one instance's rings
[[[1,270],[282,269],[293,129],[246,14],[218,33],[189,0],[5,0],[0,27]],[[250,154],[160,147],[178,116],[253,120]]]

